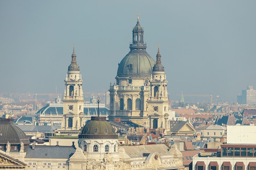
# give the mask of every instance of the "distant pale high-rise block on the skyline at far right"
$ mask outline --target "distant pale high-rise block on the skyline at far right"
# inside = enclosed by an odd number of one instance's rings
[[[247,90],[242,90],[242,95],[237,96],[238,104],[256,104],[256,90],[252,86],[247,86]]]

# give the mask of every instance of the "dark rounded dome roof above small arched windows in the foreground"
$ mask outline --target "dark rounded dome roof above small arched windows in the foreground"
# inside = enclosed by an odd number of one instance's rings
[[[91,117],[91,121],[83,127],[79,139],[117,139],[113,127],[106,117]]]

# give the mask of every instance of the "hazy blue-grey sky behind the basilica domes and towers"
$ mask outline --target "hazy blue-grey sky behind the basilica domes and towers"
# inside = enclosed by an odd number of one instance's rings
[[[0,93],[63,94],[73,44],[84,92],[108,91],[144,26],[171,100],[256,89],[256,0],[0,0]],[[97,92],[96,92],[97,93]],[[184,97],[186,101],[186,97]]]

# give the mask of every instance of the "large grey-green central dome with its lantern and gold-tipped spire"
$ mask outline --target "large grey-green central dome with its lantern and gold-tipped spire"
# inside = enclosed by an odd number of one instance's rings
[[[132,30],[132,44],[130,44],[130,52],[121,60],[118,66],[117,77],[134,79],[143,79],[150,77],[155,61],[146,52],[146,43],[144,43],[144,30],[137,24]]]

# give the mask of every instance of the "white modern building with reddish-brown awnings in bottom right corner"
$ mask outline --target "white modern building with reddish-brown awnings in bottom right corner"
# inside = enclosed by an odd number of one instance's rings
[[[193,170],[255,170],[256,126],[227,126],[227,144],[220,152],[200,152]]]

